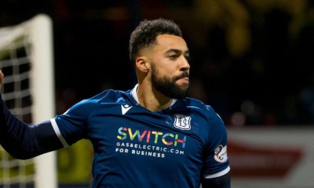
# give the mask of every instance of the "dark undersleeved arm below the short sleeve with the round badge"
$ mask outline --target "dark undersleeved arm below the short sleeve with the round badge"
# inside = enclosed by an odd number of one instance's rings
[[[215,178],[202,178],[203,188],[230,188],[230,171]]]

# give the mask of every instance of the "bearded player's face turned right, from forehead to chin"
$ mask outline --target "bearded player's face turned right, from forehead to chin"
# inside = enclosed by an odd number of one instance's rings
[[[184,39],[169,34],[159,35],[151,52],[152,86],[170,98],[185,98],[189,88],[190,66]]]

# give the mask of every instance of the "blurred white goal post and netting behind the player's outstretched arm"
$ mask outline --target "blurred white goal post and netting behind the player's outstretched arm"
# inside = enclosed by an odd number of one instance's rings
[[[55,115],[52,51],[52,22],[47,15],[0,28],[2,98],[28,124]],[[16,160],[0,147],[0,187],[56,188],[55,160],[54,152]]]

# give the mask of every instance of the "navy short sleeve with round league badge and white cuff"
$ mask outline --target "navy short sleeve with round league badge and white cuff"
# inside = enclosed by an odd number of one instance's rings
[[[205,149],[203,177],[215,178],[226,174],[229,167],[227,157],[227,131],[218,114],[210,106],[209,111],[209,136]]]

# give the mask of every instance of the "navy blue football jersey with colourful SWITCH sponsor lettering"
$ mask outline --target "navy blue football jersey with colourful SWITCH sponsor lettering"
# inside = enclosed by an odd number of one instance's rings
[[[93,187],[200,187],[201,176],[229,171],[226,129],[210,106],[173,99],[151,112],[136,89],[105,90],[51,119],[64,147],[91,140]]]

